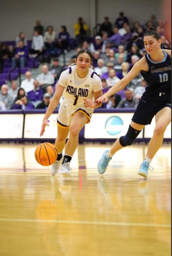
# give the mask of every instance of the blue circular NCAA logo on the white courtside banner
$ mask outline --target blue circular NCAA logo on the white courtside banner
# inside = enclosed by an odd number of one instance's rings
[[[105,130],[110,135],[117,135],[122,131],[124,124],[119,116],[111,116],[105,123]]]

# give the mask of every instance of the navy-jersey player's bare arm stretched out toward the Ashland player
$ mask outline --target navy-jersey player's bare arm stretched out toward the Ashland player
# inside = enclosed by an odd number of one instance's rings
[[[107,91],[107,93],[99,97],[96,102],[102,102],[103,100],[106,102],[108,97],[122,90],[142,69],[146,70],[148,68],[148,65],[146,66],[147,63],[145,63],[145,61],[146,59],[145,57],[143,57],[140,61],[134,64],[130,72],[128,72],[128,74],[124,78],[122,78],[122,80],[114,84],[114,86],[112,86],[110,90]]]

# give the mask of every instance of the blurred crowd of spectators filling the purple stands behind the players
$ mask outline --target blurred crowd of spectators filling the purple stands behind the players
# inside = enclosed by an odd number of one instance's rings
[[[88,25],[83,21],[83,18],[78,18],[78,22],[74,25],[76,54],[80,49],[88,49],[92,52],[91,68],[101,78],[103,93],[126,76],[133,65],[146,54],[143,37],[138,37],[128,43],[126,39],[139,35],[141,32],[144,33],[151,27],[154,27],[161,35],[161,48],[171,49],[171,42],[168,42],[164,36],[164,24],[162,20],[157,21],[155,15],[152,15],[150,20],[143,25],[135,21],[133,27],[130,27],[128,18],[124,16],[123,12],[120,12],[114,25],[108,17],[105,17],[95,38],[89,37]],[[7,48],[4,43],[1,43],[0,73],[6,58],[12,63],[12,67],[16,67],[16,65],[25,67],[28,58],[31,57],[38,58],[41,63],[46,52],[52,65],[50,70],[47,65],[43,65],[42,73],[38,75],[36,80],[32,78],[31,72],[27,71],[26,79],[22,81],[20,88],[17,87],[17,81],[11,82],[10,89],[8,85],[4,84],[0,92],[0,110],[48,108],[60,74],[67,68],[59,65],[56,56],[70,51],[70,35],[67,28],[61,26],[60,30],[58,36],[52,26],[48,26],[44,31],[44,27],[37,20],[30,49],[23,32],[17,36],[15,48],[13,46]],[[145,91],[145,86],[146,82],[139,73],[123,90],[112,95],[107,103],[103,103],[102,108],[136,108]],[[61,103],[62,98],[57,108]]]

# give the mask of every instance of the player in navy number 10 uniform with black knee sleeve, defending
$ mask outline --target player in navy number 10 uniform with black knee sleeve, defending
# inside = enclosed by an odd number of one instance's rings
[[[138,174],[148,178],[149,164],[161,147],[165,129],[171,122],[171,50],[161,50],[161,36],[155,29],[151,28],[144,34],[145,49],[148,52],[138,61],[131,71],[97,102],[106,102],[110,95],[123,89],[139,72],[146,81],[138,107],[134,113],[128,132],[116,140],[110,150],[105,150],[98,163],[98,172],[103,174],[113,155],[120,149],[134,143],[141,130],[151,123],[155,116],[156,127],[151,138],[144,162],[140,165]],[[134,36],[132,39],[136,39]],[[128,39],[132,40],[132,39]]]

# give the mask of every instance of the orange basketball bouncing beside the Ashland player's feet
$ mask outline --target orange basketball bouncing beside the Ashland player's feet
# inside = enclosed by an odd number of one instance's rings
[[[35,150],[35,159],[40,165],[52,165],[57,159],[57,150],[51,143],[41,143]]]

